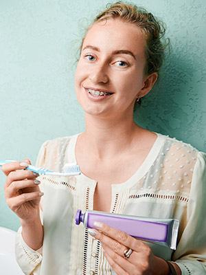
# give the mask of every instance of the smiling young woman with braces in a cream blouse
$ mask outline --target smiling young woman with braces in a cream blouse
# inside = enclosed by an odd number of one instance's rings
[[[37,160],[55,171],[77,162],[80,176],[38,177],[24,169],[28,159],[3,166],[5,198],[21,219],[16,259],[25,274],[206,274],[206,156],[133,121],[135,102],[157,81],[162,34],[152,14],[124,3],[87,30],[75,77],[86,131],[45,142]],[[78,209],[179,219],[177,249],[98,221],[99,230],[84,229],[74,222]]]

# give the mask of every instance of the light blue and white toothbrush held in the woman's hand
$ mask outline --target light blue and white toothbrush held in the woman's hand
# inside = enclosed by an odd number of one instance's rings
[[[15,162],[15,160],[0,160],[0,166],[10,162]],[[27,167],[25,167],[25,169],[37,173],[38,175],[75,176],[81,174],[80,166],[78,166],[77,164],[65,164],[65,166],[63,167],[64,173],[54,172],[46,168],[36,167],[33,165],[28,165]]]

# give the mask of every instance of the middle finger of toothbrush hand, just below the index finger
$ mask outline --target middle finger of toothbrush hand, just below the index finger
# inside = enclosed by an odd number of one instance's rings
[[[36,177],[38,177],[38,174],[30,170],[12,171],[9,173],[5,181],[5,188],[10,186],[13,181],[19,181],[23,179],[35,179]]]

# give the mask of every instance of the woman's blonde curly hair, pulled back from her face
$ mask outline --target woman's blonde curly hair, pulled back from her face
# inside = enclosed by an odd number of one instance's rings
[[[122,3],[108,4],[106,10],[95,17],[93,23],[87,29],[87,32],[94,23],[108,19],[122,19],[127,23],[132,23],[140,28],[146,38],[146,68],[145,74],[159,72],[163,60],[165,58],[165,48],[169,45],[169,40],[163,43],[162,38],[165,34],[165,26],[163,22],[155,18],[150,12],[137,5]],[[82,44],[87,35],[84,35]],[[82,49],[82,46],[81,46]]]

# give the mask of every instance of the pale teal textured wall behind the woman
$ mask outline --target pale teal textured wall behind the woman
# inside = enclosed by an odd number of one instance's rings
[[[113,1],[111,1],[113,2]],[[0,1],[0,159],[35,163],[45,140],[84,131],[74,93],[82,30],[107,0]],[[159,83],[135,111],[147,129],[206,151],[206,2],[133,1],[165,21],[172,50]],[[0,173],[0,226],[17,230]]]

